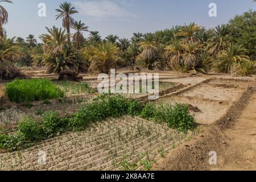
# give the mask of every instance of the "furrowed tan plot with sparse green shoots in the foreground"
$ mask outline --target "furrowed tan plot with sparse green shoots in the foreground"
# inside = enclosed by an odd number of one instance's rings
[[[0,154],[0,170],[149,170],[185,138],[142,118],[112,118],[28,150]],[[45,165],[38,163],[40,151],[46,154]]]

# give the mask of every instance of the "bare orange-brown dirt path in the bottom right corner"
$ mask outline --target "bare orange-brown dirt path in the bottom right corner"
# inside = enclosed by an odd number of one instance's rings
[[[256,170],[256,92],[231,129],[224,130],[227,148],[212,170]]]

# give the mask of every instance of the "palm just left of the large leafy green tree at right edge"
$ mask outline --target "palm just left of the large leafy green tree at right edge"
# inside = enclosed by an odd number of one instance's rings
[[[208,53],[216,56],[218,52],[224,50],[227,46],[228,26],[222,24],[213,29],[213,36],[208,40]]]

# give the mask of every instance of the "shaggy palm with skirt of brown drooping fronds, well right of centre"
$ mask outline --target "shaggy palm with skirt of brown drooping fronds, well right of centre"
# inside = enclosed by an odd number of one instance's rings
[[[199,42],[188,42],[187,44],[183,45],[184,53],[183,59],[184,64],[187,66],[189,70],[195,69],[197,65],[199,65],[200,60],[197,54],[197,51],[200,50],[201,44]]]

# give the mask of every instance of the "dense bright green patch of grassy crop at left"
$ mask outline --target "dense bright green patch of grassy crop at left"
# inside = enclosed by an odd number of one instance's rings
[[[6,84],[10,101],[31,102],[64,97],[64,92],[47,79],[14,80]]]

